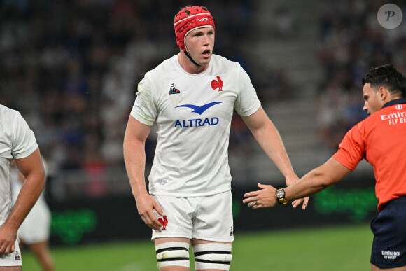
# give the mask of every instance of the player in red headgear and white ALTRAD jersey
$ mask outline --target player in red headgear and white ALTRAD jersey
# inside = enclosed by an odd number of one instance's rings
[[[234,109],[287,185],[298,178],[246,71],[213,54],[215,26],[207,8],[182,8],[174,29],[179,54],[149,71],[138,86],[124,139],[127,174],[139,215],[153,229],[161,271],[189,270],[190,245],[196,270],[229,270]],[[144,146],[153,124],[158,143],[148,194]]]

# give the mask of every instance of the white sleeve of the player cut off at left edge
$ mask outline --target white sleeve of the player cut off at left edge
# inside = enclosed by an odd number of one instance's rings
[[[20,113],[15,114],[12,137],[11,153],[15,159],[26,158],[38,148],[34,132]]]

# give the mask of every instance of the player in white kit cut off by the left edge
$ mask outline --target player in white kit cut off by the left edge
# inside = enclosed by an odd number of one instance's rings
[[[10,167],[13,160],[25,176],[15,205],[11,201]],[[0,270],[21,270],[17,231],[38,200],[45,172],[34,132],[18,111],[0,105]]]

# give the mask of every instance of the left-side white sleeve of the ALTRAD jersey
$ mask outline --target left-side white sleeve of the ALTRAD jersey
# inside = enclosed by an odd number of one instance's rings
[[[132,106],[131,116],[140,123],[152,126],[158,116],[158,110],[153,102],[153,85],[145,76],[138,84],[137,99]]]

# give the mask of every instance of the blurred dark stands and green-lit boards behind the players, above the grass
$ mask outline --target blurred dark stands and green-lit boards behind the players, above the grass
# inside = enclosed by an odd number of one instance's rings
[[[149,239],[125,172],[123,136],[137,83],[179,52],[174,15],[209,8],[214,53],[251,76],[299,176],[335,153],[363,112],[362,76],[392,63],[406,73],[403,22],[385,29],[387,1],[361,0],[3,0],[0,104],[17,109],[48,162],[45,197],[51,246]],[[147,169],[156,134],[146,144]],[[372,167],[311,198],[307,211],[252,211],[241,204],[256,183],[284,186],[237,114],[230,135],[235,233],[312,225],[369,223],[377,214]],[[147,178],[146,178],[147,179]],[[278,217],[278,219],[275,219]]]

